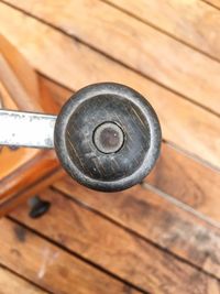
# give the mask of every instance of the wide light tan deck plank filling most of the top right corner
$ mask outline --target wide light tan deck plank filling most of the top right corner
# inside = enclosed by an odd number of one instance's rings
[[[125,0],[107,0],[107,2],[220,61],[220,13],[206,2],[200,0],[129,0],[129,3]]]

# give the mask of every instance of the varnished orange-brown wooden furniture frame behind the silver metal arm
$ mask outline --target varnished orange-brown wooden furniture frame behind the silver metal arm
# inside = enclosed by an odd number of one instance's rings
[[[56,113],[59,107],[35,70],[6,37],[0,35],[1,107],[13,110]],[[53,151],[1,148],[0,216],[20,202],[30,188],[59,165]],[[48,183],[48,181],[47,181]],[[32,187],[33,190],[33,187]],[[15,199],[12,202],[12,198]]]

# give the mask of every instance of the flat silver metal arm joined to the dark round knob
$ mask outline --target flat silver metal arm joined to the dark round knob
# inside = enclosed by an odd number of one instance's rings
[[[52,149],[56,118],[0,109],[0,145]]]

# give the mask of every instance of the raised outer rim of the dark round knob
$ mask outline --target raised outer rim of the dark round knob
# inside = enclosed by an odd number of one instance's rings
[[[141,116],[146,120],[148,128],[148,145],[145,150],[139,151],[143,152],[142,162],[140,163],[138,168],[132,172],[132,174],[128,173],[127,175],[127,171],[124,171],[124,177],[121,176],[120,178],[114,178],[113,181],[95,178],[92,176],[89,176],[89,174],[85,174],[85,172],[79,168],[79,166],[73,161],[73,157],[69,154],[69,149],[67,146],[68,123],[76,111],[78,111],[77,109],[79,109],[81,104],[90,100],[91,98],[107,96],[119,98],[122,97],[124,101],[128,102],[128,106],[135,106],[135,108],[139,109]],[[98,107],[97,111],[99,111]],[[80,126],[77,126],[76,128],[80,128]],[[158,157],[161,140],[162,133],[160,122],[154,109],[147,102],[147,100],[135,90],[114,83],[90,85],[73,95],[70,99],[64,105],[61,113],[58,115],[54,134],[57,156],[67,173],[82,185],[105,192],[122,190],[140,183],[151,172]],[[130,159],[128,159],[128,161]]]

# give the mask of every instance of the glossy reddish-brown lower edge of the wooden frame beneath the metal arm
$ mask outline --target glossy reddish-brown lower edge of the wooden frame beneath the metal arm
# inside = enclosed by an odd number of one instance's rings
[[[31,170],[30,170],[30,168]],[[35,176],[37,175],[37,176]],[[54,155],[42,153],[24,166],[21,166],[14,174],[3,178],[0,198],[0,217],[4,216],[29,197],[37,195],[44,188],[61,179],[64,171],[57,168],[57,161]]]

